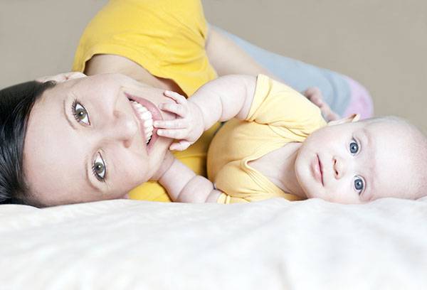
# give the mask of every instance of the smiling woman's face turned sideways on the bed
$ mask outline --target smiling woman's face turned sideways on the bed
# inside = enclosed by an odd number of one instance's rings
[[[163,90],[124,75],[74,78],[46,91],[24,145],[31,198],[44,205],[122,198],[148,181],[172,142],[152,131],[153,119],[174,119],[159,110],[165,102],[173,101]]]

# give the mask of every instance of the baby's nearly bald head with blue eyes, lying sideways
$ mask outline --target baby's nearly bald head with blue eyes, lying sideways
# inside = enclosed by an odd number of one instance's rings
[[[427,195],[427,138],[399,117],[330,122],[302,144],[295,161],[307,198],[366,203]]]

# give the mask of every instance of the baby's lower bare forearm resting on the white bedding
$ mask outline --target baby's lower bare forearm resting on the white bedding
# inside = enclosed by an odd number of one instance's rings
[[[175,159],[170,152],[167,154],[167,169],[161,173],[158,181],[167,190],[170,198],[181,203],[215,203],[221,191],[216,190],[211,181],[196,175]]]

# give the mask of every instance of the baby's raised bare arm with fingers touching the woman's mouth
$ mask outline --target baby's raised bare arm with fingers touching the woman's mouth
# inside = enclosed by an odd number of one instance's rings
[[[154,122],[157,134],[179,140],[170,149],[184,150],[216,122],[234,117],[246,119],[255,84],[256,77],[253,76],[226,75],[200,87],[189,100],[176,92],[165,92],[176,104],[162,104],[160,108],[179,118]]]

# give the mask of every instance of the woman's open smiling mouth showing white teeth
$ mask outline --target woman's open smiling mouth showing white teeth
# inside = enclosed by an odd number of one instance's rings
[[[141,124],[142,137],[147,145],[147,153],[150,151],[154,142],[157,140],[157,129],[153,127],[153,122],[162,120],[162,114],[155,104],[145,100],[142,97],[136,97],[125,93],[127,99],[130,100],[132,109],[135,112],[135,116]]]

